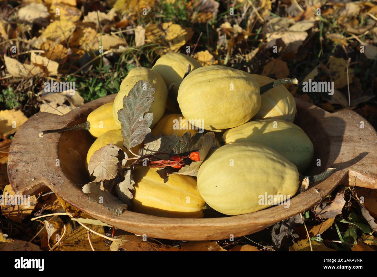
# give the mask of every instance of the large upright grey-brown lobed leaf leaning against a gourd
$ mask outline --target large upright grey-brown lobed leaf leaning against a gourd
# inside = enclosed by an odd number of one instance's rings
[[[123,145],[130,149],[141,142],[150,133],[153,113],[148,113],[152,102],[155,100],[152,94],[155,89],[147,81],[138,81],[123,98],[123,109],[118,111],[118,119],[121,122]]]

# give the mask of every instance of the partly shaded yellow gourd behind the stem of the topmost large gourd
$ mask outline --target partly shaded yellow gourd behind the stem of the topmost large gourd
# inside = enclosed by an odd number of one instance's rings
[[[259,86],[275,81],[272,78],[251,74]],[[280,119],[293,122],[296,115],[296,101],[285,86],[277,86],[262,95],[261,108],[253,119]]]

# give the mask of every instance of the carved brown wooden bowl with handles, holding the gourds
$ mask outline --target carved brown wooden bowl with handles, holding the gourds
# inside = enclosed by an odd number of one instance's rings
[[[15,134],[9,151],[8,176],[14,191],[35,194],[47,186],[90,216],[139,235],[172,240],[217,240],[255,233],[302,213],[321,202],[340,183],[377,188],[377,134],[371,124],[352,110],[328,113],[296,99],[295,123],[310,137],[315,150],[308,173],[319,173],[328,167],[337,171],[290,199],[289,208],[280,205],[239,216],[203,219],[164,218],[132,211],[115,216],[102,205],[90,202],[81,191],[82,185],[88,182],[85,158],[94,141],[89,132],[77,130],[38,137],[42,130],[85,122],[92,110],[114,98],[115,95],[109,95],[97,99],[63,116],[40,112],[29,118]],[[360,124],[364,124],[363,128]]]

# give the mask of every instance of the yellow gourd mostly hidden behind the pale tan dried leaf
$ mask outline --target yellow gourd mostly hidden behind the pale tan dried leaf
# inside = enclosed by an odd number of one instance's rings
[[[120,147],[123,149],[124,152],[127,153],[128,158],[133,158],[135,157],[134,155],[131,154],[124,146],[123,146],[123,138],[120,130],[110,130],[101,135],[99,138],[97,138],[93,144],[90,146],[88,153],[86,155],[86,161],[85,161],[85,166],[86,169],[88,168],[88,164],[90,161],[90,157],[92,157],[93,153],[96,152],[98,149],[101,147],[106,146],[109,143],[113,143],[116,146]],[[131,148],[132,152],[135,154],[138,154],[139,148],[141,147],[141,144],[136,145]],[[126,165],[132,164],[133,160],[127,161]]]

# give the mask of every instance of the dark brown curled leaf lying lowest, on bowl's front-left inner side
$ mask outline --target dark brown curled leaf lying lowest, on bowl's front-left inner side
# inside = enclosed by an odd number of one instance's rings
[[[112,211],[116,216],[119,216],[123,210],[127,210],[128,208],[127,204],[113,196],[110,192],[101,190],[100,184],[96,182],[84,185],[82,191],[89,194],[89,200],[104,205],[105,208]]]

